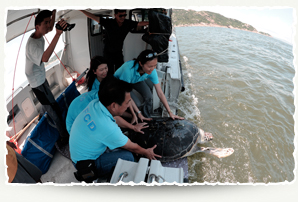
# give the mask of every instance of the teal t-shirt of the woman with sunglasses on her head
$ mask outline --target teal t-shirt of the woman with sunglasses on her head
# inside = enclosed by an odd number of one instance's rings
[[[152,73],[146,74],[144,73],[142,76],[137,71],[139,68],[139,64],[136,64],[133,67],[134,60],[130,60],[125,62],[117,71],[114,73],[114,76],[122,81],[126,81],[127,83],[138,83],[140,81],[144,81],[147,78],[152,81],[153,84],[158,84],[158,75],[156,69],[152,71]]]

